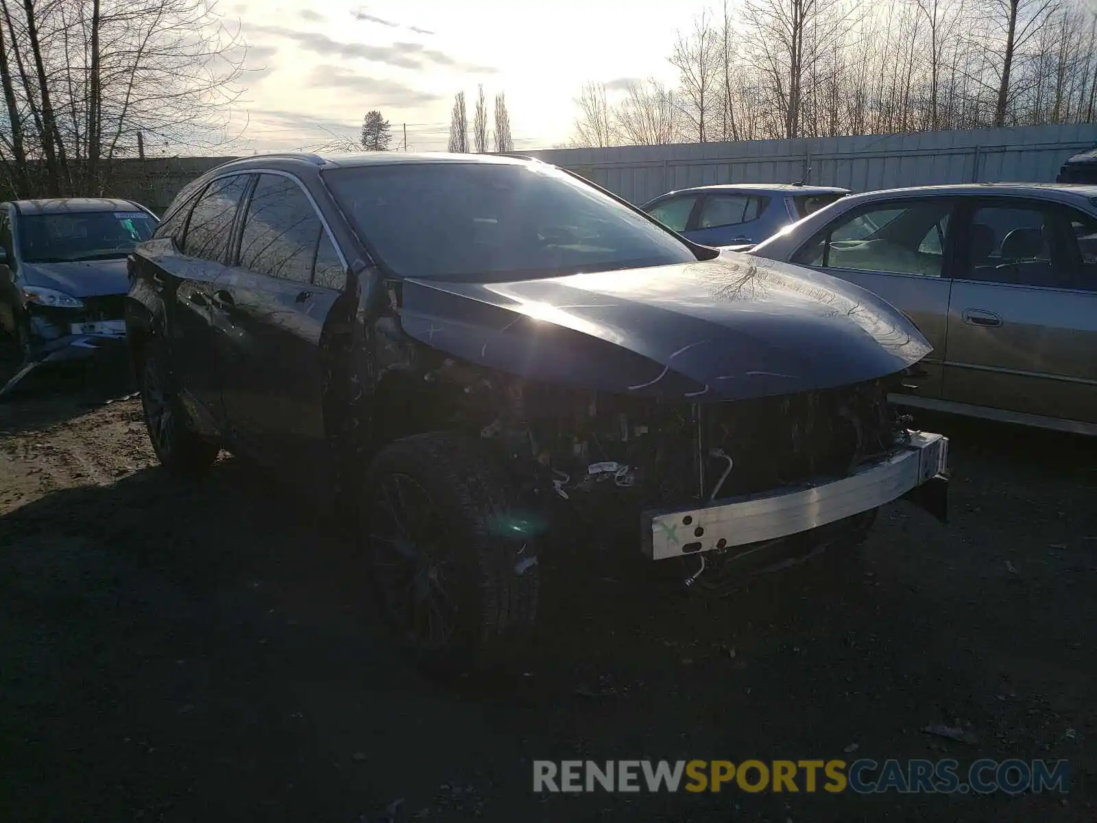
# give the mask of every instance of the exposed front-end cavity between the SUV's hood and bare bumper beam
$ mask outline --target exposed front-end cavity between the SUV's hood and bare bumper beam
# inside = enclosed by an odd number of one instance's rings
[[[438,422],[493,443],[531,492],[575,504],[691,506],[844,477],[908,437],[884,380],[703,404],[531,383],[452,359],[423,382]]]

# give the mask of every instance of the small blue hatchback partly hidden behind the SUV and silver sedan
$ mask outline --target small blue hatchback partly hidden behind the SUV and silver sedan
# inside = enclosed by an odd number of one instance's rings
[[[663,194],[641,206],[668,228],[705,246],[751,246],[849,189],[789,183],[702,185]]]

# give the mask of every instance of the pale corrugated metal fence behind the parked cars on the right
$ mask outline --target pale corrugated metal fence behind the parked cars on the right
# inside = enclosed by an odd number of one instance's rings
[[[534,151],[633,203],[712,183],[840,185],[853,191],[932,183],[1053,181],[1097,145],[1097,124],[793,140]]]

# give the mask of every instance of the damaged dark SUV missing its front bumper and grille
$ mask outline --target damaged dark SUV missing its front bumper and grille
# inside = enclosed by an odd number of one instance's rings
[[[930,350],[905,316],[536,160],[231,161],[129,266],[163,465],[226,448],[331,489],[428,659],[533,621],[554,519],[630,511],[635,551],[705,587],[943,501],[947,440],[887,403]]]

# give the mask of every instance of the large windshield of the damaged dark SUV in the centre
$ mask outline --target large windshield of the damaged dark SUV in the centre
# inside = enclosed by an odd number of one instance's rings
[[[489,282],[692,262],[689,247],[559,169],[419,164],[324,172],[397,274]]]

